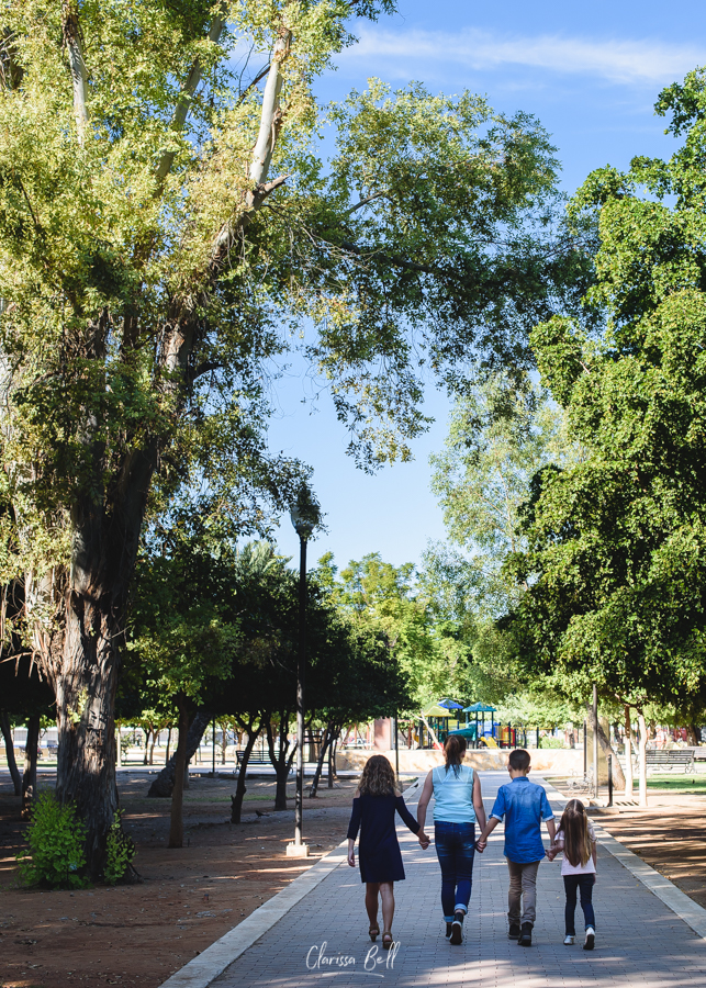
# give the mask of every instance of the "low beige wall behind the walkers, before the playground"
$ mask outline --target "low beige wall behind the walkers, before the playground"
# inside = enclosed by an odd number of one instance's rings
[[[336,756],[338,768],[357,768],[362,772],[363,765],[373,754],[383,754],[394,765],[394,751],[343,751]],[[494,748],[467,751],[464,762],[479,772],[497,772],[507,768],[507,750]],[[529,749],[531,767],[541,775],[576,775],[583,774],[583,751],[563,749]],[[444,764],[440,751],[400,751],[400,772],[418,772],[426,774],[435,765]]]

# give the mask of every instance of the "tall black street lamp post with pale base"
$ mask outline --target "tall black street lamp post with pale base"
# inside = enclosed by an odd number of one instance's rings
[[[292,525],[299,536],[299,648],[296,654],[296,796],[294,801],[294,843],[287,853],[306,857],[309,846],[303,840],[304,811],[304,687],[306,682],[306,542],[318,524],[318,504],[307,486],[300,487],[290,508]]]

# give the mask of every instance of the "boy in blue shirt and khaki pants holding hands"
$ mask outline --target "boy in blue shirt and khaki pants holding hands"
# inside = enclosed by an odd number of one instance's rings
[[[489,834],[504,818],[505,857],[509,871],[507,935],[511,940],[516,940],[520,946],[531,946],[531,930],[537,914],[537,871],[539,862],[545,856],[541,821],[547,824],[552,845],[557,824],[547,794],[541,786],[530,783],[527,778],[529,752],[524,749],[511,752],[507,771],[512,782],[500,787],[477,847],[481,853],[485,850]]]

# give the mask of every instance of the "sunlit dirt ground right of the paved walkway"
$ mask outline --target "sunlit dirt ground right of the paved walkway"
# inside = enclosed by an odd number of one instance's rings
[[[650,787],[645,809],[624,805],[621,795],[616,794],[619,812],[597,813],[594,819],[706,908],[706,795],[692,795],[690,783],[691,779],[684,779],[683,786],[677,786],[674,781],[670,789],[661,790]],[[564,795],[571,795],[558,782],[553,784]]]

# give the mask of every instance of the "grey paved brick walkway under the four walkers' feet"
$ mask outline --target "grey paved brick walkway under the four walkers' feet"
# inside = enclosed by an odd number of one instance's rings
[[[488,808],[506,779],[505,773],[483,773]],[[598,984],[602,988],[702,988],[706,980],[706,941],[601,847],[594,891],[595,951],[562,944],[564,896],[559,861],[545,861],[539,868],[534,945],[523,948],[508,941],[502,827],[485,853],[475,857],[467,939],[452,947],[442,932],[434,847],[423,852],[406,828],[399,833],[407,879],[396,886],[396,955],[374,947],[370,952],[360,876],[357,868],[354,872],[343,863],[213,985],[296,988],[333,981],[336,988],[347,988],[377,980],[390,988],[584,988]],[[582,925],[578,907],[576,930]],[[332,963],[336,958],[347,966]],[[382,963],[376,963],[379,959]]]

